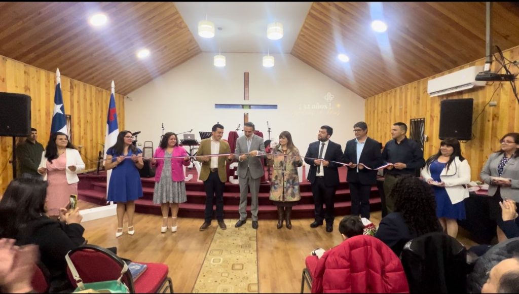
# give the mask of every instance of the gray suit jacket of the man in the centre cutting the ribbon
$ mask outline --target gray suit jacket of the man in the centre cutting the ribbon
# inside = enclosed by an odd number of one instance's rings
[[[258,154],[265,155],[265,145],[263,143],[263,138],[257,135],[252,135],[251,149],[247,149],[247,137],[241,136],[236,140],[236,150],[234,153],[248,153],[251,151],[257,150]],[[236,155],[235,158],[238,161],[238,177],[245,178],[247,176],[247,169],[249,169],[251,173],[251,177],[253,179],[261,178],[264,175],[265,171],[263,170],[263,166],[261,164],[261,159],[263,156],[255,156],[255,157],[247,157],[244,161],[240,162],[239,155]]]

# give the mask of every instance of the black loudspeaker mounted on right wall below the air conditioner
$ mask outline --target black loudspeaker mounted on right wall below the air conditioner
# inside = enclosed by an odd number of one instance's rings
[[[448,99],[440,103],[440,139],[472,139],[474,99]]]

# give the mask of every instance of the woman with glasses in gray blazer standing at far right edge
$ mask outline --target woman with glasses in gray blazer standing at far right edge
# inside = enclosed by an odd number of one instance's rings
[[[480,176],[487,183],[490,206],[490,218],[497,222],[497,238],[501,242],[507,237],[501,230],[503,219],[499,202],[511,199],[519,202],[519,133],[511,132],[504,135],[501,148],[490,154]]]

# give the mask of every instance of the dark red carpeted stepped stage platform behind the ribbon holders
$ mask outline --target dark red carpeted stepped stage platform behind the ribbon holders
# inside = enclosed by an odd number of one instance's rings
[[[195,168],[186,169],[186,175],[193,175],[193,179],[186,182],[187,202],[180,204],[179,217],[182,218],[204,218],[206,207],[206,192],[202,182],[197,182]],[[85,173],[79,176],[78,196],[79,199],[99,205],[106,204],[106,172],[101,171]],[[346,182],[346,168],[339,168],[339,188],[335,194],[335,215],[348,215],[351,209],[350,191]],[[141,178],[144,196],[135,201],[135,211],[160,215],[160,205],[153,204],[153,190],[155,178]],[[292,210],[293,219],[313,218],[313,197],[310,182],[306,179],[300,183],[301,201]],[[270,184],[262,183],[258,198],[260,210],[258,218],[277,219],[277,207],[268,199]],[[225,183],[224,190],[224,217],[239,218],[238,206],[240,202],[240,188],[238,184]],[[251,196],[248,196],[248,218],[250,215]],[[370,210],[380,210],[380,196],[376,185],[371,189]],[[214,207],[216,208],[216,207]]]

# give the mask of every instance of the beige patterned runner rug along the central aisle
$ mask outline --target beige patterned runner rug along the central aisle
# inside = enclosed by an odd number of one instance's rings
[[[193,293],[258,292],[256,230],[250,219],[240,228],[237,221],[225,220],[227,230],[216,230]]]

